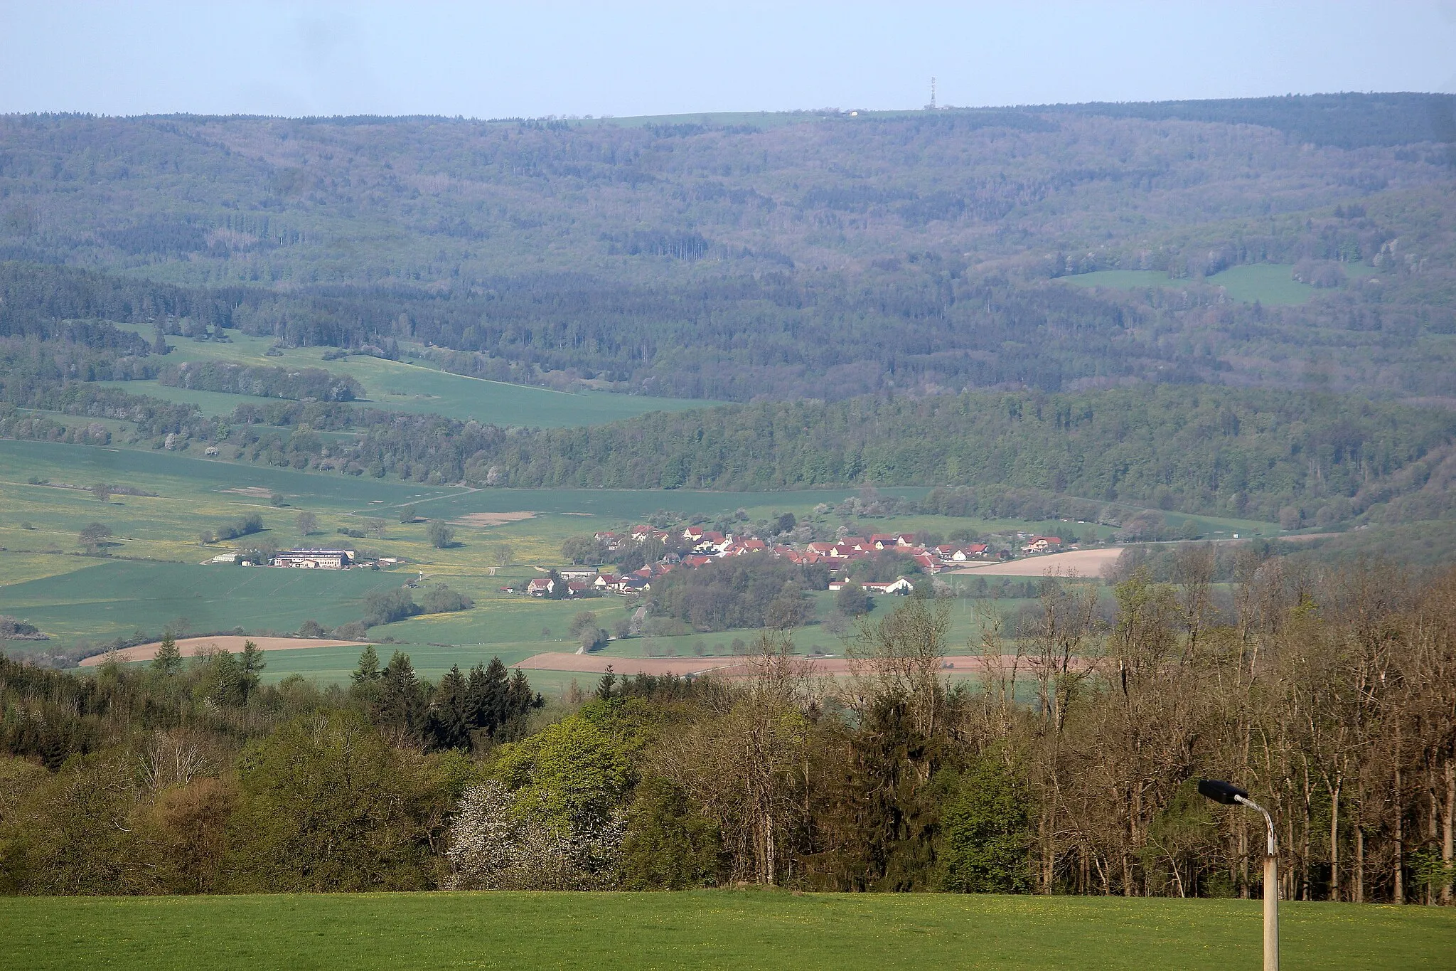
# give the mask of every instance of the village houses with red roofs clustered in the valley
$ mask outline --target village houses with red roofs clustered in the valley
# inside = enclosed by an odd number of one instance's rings
[[[810,566],[826,563],[834,569],[847,568],[858,559],[868,559],[885,550],[893,550],[909,556],[922,572],[935,575],[942,569],[954,568],[968,562],[993,559],[986,543],[938,544],[925,546],[916,540],[914,533],[875,533],[874,536],[846,536],[833,543],[807,543],[802,547],[794,543],[769,543],[757,536],[732,536],[705,530],[700,526],[689,526],[680,531],[654,528],[651,526],[636,526],[626,533],[597,533],[597,543],[607,550],[619,550],[630,546],[642,546],[649,540],[664,544],[674,544],[686,552],[668,553],[655,563],[648,563],[642,569],[630,574],[598,572],[596,569],[559,571],[559,582],[566,585],[568,597],[582,597],[591,592],[638,594],[651,590],[652,581],[673,569],[693,569],[729,556],[744,556],[747,553],[769,553],[791,563]],[[1056,536],[1029,537],[1024,553],[1045,553],[1060,549],[1061,540]],[[556,594],[556,579],[539,576],[530,581],[526,592],[533,597],[550,597]],[[834,581],[830,590],[839,590],[844,581]],[[910,592],[911,584],[904,576],[890,582],[860,584],[874,594],[903,594]]]

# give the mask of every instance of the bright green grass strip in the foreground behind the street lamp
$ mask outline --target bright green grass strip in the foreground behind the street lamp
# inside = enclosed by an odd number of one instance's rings
[[[10,898],[0,968],[1254,968],[1254,901],[932,894]],[[1456,913],[1284,904],[1287,968],[1440,968]]]

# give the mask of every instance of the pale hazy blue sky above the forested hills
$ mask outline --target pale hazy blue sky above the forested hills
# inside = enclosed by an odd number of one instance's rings
[[[1095,7],[1095,9],[1093,9]],[[0,112],[638,115],[1456,90],[1456,3],[0,0]]]

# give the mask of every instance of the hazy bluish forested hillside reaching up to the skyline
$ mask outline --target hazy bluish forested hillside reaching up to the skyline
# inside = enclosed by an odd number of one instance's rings
[[[1452,397],[1450,105],[7,116],[0,335],[105,317],[414,342],[482,377],[719,400],[1125,381]],[[1249,263],[1313,298],[1230,298],[1214,278]],[[1099,269],[1179,288],[1060,282]]]

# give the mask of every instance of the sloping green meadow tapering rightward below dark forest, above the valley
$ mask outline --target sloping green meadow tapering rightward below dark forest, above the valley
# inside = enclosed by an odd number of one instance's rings
[[[144,325],[116,326],[151,336],[150,328]],[[347,374],[363,384],[368,400],[363,402],[361,408],[437,413],[495,425],[531,425],[537,428],[601,425],[646,412],[686,411],[718,403],[610,392],[553,392],[545,387],[450,374],[432,364],[408,360],[386,361],[360,355],[325,361],[326,348],[287,348],[281,357],[266,357],[264,352],[272,346],[271,338],[253,338],[236,332],[230,332],[229,338],[226,342],[169,338],[173,349],[165,361],[167,364],[229,361],[250,367],[317,367],[335,374]],[[150,395],[165,400],[198,405],[207,415],[226,415],[239,403],[268,400],[250,395],[166,387],[156,381],[100,383],[108,387],[121,387],[132,395]]]

